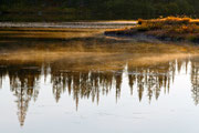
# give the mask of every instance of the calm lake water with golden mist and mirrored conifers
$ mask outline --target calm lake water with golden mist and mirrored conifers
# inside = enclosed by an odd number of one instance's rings
[[[198,47],[108,28],[1,28],[0,132],[198,133]]]

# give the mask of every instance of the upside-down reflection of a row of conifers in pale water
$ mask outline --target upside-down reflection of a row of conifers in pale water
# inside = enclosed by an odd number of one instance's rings
[[[187,70],[190,65],[191,93],[195,104],[199,103],[199,65],[197,59],[175,60],[146,66],[135,66],[127,63],[123,65],[123,69],[114,71],[71,71],[64,70],[64,65],[60,68],[59,64],[44,62],[41,64],[12,64],[9,61],[2,61],[0,65],[0,83],[2,84],[3,79],[9,78],[10,91],[17,98],[21,126],[24,124],[30,101],[36,101],[39,96],[41,76],[50,78],[52,93],[56,102],[63,93],[69,93],[73,96],[77,110],[80,100],[88,99],[100,103],[101,95],[108,95],[112,90],[115,91],[117,101],[123,91],[124,73],[128,75],[128,86],[133,96],[134,92],[137,91],[138,99],[142,102],[144,93],[147,92],[148,102],[151,102],[153,98],[158,100],[161,92],[169,93],[170,85],[175,82],[175,75],[181,71],[181,68]]]

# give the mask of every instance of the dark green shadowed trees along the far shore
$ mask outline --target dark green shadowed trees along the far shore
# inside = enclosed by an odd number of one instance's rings
[[[195,16],[199,0],[1,0],[0,10],[64,11],[104,19],[135,19],[158,16]]]

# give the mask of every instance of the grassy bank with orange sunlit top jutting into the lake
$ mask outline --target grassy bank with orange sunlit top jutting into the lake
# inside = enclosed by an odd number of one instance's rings
[[[129,29],[105,31],[107,35],[155,37],[161,40],[188,40],[199,42],[199,20],[190,18],[160,18],[151,20],[139,19],[138,24]]]

